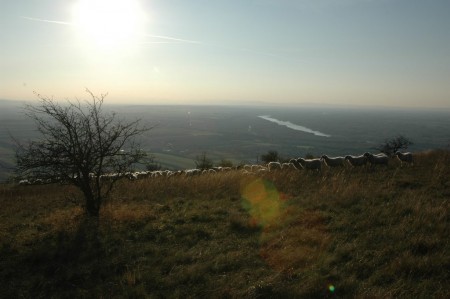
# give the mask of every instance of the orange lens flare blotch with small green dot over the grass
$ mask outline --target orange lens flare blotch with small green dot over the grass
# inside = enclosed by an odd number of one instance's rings
[[[269,267],[292,277],[317,266],[330,240],[320,211],[293,206],[294,198],[263,178],[246,181],[241,196],[249,226],[261,228],[259,255]],[[334,292],[331,284],[326,287]]]

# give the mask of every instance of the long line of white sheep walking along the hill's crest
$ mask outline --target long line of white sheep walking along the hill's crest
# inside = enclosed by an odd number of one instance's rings
[[[412,153],[397,152],[394,158],[397,158],[402,164],[413,164]],[[211,169],[186,169],[186,170],[157,170],[157,171],[139,171],[128,172],[123,175],[119,174],[104,174],[101,179],[114,179],[117,176],[125,177],[130,180],[139,180],[144,178],[155,177],[172,177],[172,176],[196,176],[200,174],[214,174],[218,172],[227,172],[232,170],[240,170],[243,174],[261,174],[271,171],[279,170],[315,170],[321,171],[324,166],[329,168],[337,167],[360,167],[367,164],[370,165],[385,165],[389,164],[390,157],[385,154],[371,154],[365,153],[360,156],[345,156],[345,157],[328,157],[323,155],[321,158],[304,159],[297,158],[291,159],[287,163],[269,162],[267,165],[241,165],[238,167],[212,167]],[[19,185],[31,185],[31,184],[44,184],[45,182],[40,179],[35,180],[21,180]]]

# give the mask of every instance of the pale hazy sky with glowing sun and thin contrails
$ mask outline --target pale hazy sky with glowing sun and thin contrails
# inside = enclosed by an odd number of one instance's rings
[[[448,0],[0,0],[0,99],[450,107]]]

